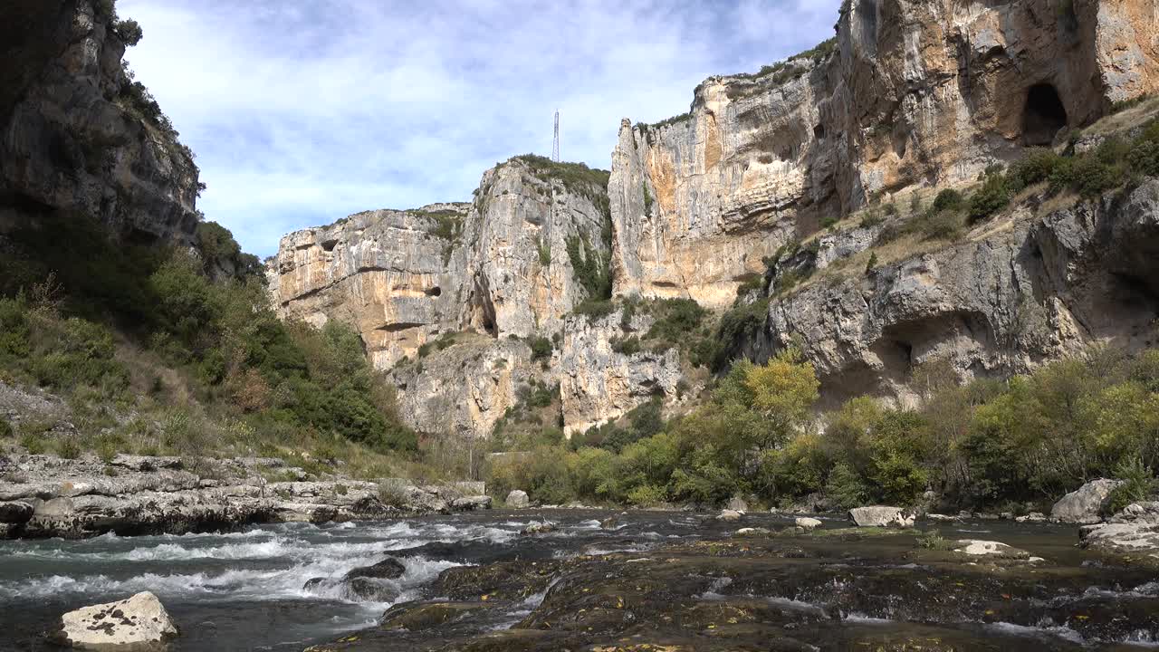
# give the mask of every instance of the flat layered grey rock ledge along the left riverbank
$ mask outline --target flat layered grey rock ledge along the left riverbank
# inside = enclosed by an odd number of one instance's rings
[[[307,478],[279,459],[182,461],[117,456],[0,458],[0,538],[82,538],[116,533],[183,534],[246,523],[351,521],[487,508],[478,483],[414,486],[403,480]],[[211,469],[214,479],[184,468]],[[220,479],[219,479],[220,478]]]

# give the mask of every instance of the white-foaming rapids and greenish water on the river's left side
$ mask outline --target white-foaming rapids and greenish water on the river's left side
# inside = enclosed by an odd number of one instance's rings
[[[602,530],[599,520],[581,514],[556,519],[559,528],[548,535],[526,537],[523,529],[541,522],[529,516],[484,513],[284,523],[223,534],[0,542],[0,613],[12,615],[20,628],[15,643],[0,637],[0,650],[46,650],[42,633],[61,613],[141,591],[155,593],[183,626],[173,650],[220,650],[217,642],[226,637],[240,649],[301,650],[371,626],[392,604],[430,597],[425,587],[454,566],[639,551],[663,538],[657,523],[647,534],[636,524]],[[404,571],[395,579],[372,580],[381,589],[373,599],[351,594],[342,581],[351,570],[392,556]],[[530,614],[546,593],[513,606],[501,625]]]

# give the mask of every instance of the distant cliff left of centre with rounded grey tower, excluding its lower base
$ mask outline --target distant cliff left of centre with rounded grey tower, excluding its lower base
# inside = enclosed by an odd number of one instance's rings
[[[268,268],[274,302],[314,326],[355,325],[378,369],[414,358],[440,333],[549,335],[590,294],[573,258],[606,266],[600,180],[576,164],[517,157],[483,174],[473,203],[369,211],[290,233]]]

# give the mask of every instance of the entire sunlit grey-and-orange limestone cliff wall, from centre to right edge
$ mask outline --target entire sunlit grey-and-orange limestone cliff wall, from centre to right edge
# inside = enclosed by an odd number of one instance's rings
[[[790,345],[825,405],[909,400],[936,365],[1150,346],[1153,183],[1080,200],[1038,179],[969,224],[928,207],[1029,147],[1137,136],[1157,107],[1102,118],[1159,86],[1153,23],[1138,0],[851,0],[817,48],[707,79],[688,114],[625,119],[610,176],[517,157],[469,204],[286,236],[271,289],[285,317],[356,324],[408,422],[471,437],[544,391],[568,434],[653,397],[671,412],[709,358]],[[653,333],[650,312],[690,298],[724,313],[714,342],[695,311]]]

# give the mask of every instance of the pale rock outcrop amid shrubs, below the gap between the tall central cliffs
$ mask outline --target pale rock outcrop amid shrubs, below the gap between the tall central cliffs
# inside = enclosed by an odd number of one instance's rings
[[[646,333],[653,318],[634,312],[625,323],[624,309],[590,318],[568,318],[556,358],[563,428],[570,435],[606,423],[653,397],[677,399],[680,355],[666,350],[617,350],[617,342]]]

